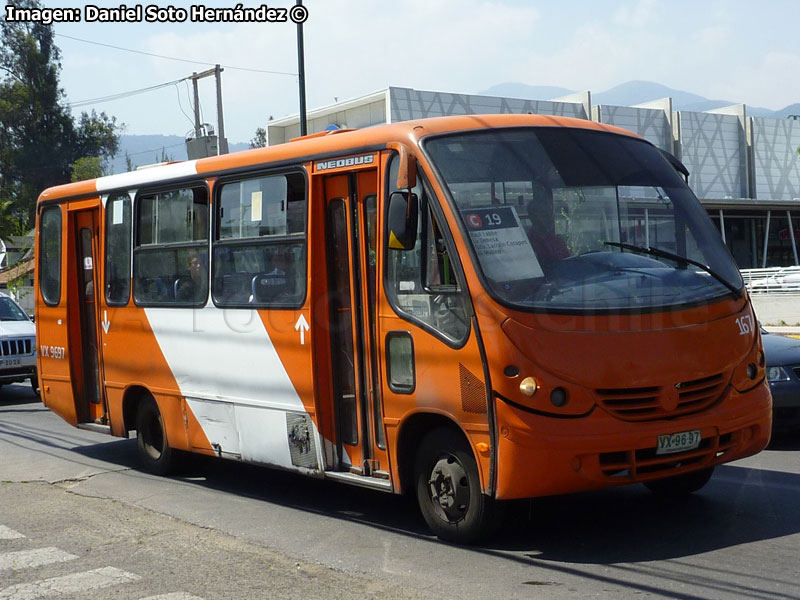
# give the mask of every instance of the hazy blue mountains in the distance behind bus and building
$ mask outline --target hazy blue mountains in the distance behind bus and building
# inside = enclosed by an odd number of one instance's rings
[[[486,96],[551,100],[574,94],[576,90],[508,82],[493,85],[479,93]],[[592,104],[633,106],[667,97],[672,98],[672,108],[674,110],[703,112],[737,104],[736,101],[731,100],[709,100],[703,96],[676,90],[652,81],[628,81],[605,92],[592,92]],[[800,103],[790,104],[780,110],[748,105],[747,114],[751,117],[785,119],[789,115],[800,115]],[[256,126],[258,124],[253,125],[254,128]],[[231,152],[247,150],[249,147],[250,145],[247,142],[229,142]],[[134,167],[161,162],[165,158],[166,160],[186,160],[186,144],[184,139],[177,135],[123,135],[120,137],[117,156],[109,162],[109,173],[124,173],[127,171],[126,153]]]

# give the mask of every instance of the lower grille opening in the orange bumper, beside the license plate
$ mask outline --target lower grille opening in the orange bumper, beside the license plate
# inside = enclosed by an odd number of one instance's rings
[[[726,433],[703,438],[698,448],[674,454],[656,454],[655,446],[603,452],[598,455],[600,472],[607,479],[620,483],[652,479],[655,475],[677,475],[691,468],[715,464],[734,444],[734,435]]]

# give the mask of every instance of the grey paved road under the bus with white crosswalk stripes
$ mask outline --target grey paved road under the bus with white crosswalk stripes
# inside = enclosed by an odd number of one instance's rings
[[[73,429],[23,386],[0,394],[0,600],[43,589],[167,600],[800,600],[800,435],[719,468],[686,501],[641,486],[540,499],[492,543],[458,548],[432,538],[412,504],[379,492],[200,458],[180,477],[146,475],[134,440]],[[66,555],[78,558],[58,560]],[[4,572],[3,561],[23,566]],[[107,587],[52,592],[75,573]]]

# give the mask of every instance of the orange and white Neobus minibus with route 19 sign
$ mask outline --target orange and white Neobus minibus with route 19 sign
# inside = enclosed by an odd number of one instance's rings
[[[469,542],[499,501],[702,487],[771,399],[739,272],[679,171],[614,127],[462,116],[51,188],[43,402],[198,452],[416,494]]]

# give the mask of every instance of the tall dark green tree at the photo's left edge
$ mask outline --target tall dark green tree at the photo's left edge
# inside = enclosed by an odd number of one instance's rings
[[[41,8],[39,0],[14,4]],[[51,26],[0,22],[0,236],[28,230],[39,193],[68,183],[78,159],[117,151],[116,119],[94,111],[73,118],[60,72]]]

